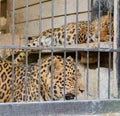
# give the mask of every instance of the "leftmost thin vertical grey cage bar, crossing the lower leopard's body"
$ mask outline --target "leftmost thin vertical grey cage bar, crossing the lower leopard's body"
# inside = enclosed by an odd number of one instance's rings
[[[12,0],[12,47],[14,46],[14,29],[15,29],[15,4]],[[12,48],[12,102],[14,101],[14,49]]]

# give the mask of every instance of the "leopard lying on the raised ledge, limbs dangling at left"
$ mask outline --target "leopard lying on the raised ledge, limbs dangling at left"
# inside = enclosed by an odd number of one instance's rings
[[[112,23],[111,23],[112,22]],[[100,25],[100,28],[98,27]],[[68,23],[65,26],[61,26],[54,29],[48,29],[42,32],[39,37],[32,39],[29,37],[28,47],[51,47],[51,45],[59,47],[65,45],[75,46],[81,43],[87,42],[108,42],[109,40],[113,40],[114,37],[114,21],[113,17],[110,20],[110,14],[108,12],[107,15],[101,16],[100,19],[96,19],[90,22],[90,26],[88,27],[88,22],[79,21],[78,23]],[[89,28],[89,29],[88,29]],[[99,32],[100,29],[100,32]],[[111,32],[109,31],[111,29]],[[88,32],[89,30],[89,32]],[[100,33],[100,40],[99,34]],[[65,41],[64,41],[65,40]],[[49,49],[49,48],[48,48]],[[7,52],[6,52],[7,51]],[[28,50],[30,53],[31,50]],[[6,55],[3,55],[5,53]],[[25,50],[16,49],[15,53],[20,53],[14,60],[15,64],[23,63],[25,59]],[[2,58],[7,58],[11,55],[10,49],[3,50],[1,52]]]

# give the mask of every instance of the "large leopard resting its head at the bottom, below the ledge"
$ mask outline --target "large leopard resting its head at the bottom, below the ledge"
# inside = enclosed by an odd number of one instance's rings
[[[71,56],[66,58],[65,65],[62,56],[48,55],[27,67],[12,66],[0,59],[1,103],[71,100],[85,91],[81,72]]]

